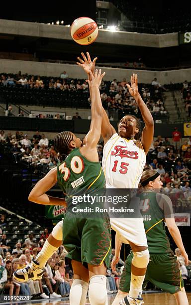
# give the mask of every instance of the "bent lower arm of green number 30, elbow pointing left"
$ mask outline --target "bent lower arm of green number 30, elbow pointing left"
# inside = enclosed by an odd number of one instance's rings
[[[67,206],[65,199],[52,197],[46,192],[57,182],[57,167],[51,169],[44,178],[36,183],[31,190],[28,200],[44,205],[64,205]]]

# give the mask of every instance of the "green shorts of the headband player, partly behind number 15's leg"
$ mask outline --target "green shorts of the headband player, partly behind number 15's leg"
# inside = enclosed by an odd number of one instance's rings
[[[129,292],[130,290],[132,258],[133,253],[130,253],[125,261],[119,285],[119,289],[122,292]],[[170,294],[181,291],[181,288],[184,287],[184,282],[179,270],[177,258],[171,253],[150,254],[143,289],[148,282],[151,282],[156,287]]]

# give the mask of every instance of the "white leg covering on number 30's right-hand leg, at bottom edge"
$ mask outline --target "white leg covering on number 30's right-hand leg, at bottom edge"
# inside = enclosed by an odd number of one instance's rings
[[[91,305],[107,305],[106,277],[96,275],[90,279],[89,300]]]

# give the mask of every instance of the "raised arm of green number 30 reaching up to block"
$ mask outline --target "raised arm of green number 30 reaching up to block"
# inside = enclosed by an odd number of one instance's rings
[[[101,69],[99,69],[99,72],[96,69],[95,75],[93,75],[90,71],[91,80],[86,80],[89,83],[89,87],[92,92],[92,121],[90,125],[90,131],[86,135],[83,141],[83,147],[80,150],[82,154],[90,161],[98,161],[96,145],[100,139],[102,124],[102,104],[99,93],[99,85],[104,75],[105,72],[101,74]]]

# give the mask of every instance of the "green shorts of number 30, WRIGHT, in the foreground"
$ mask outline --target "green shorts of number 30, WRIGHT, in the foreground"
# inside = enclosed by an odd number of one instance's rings
[[[69,259],[108,268],[111,255],[111,228],[107,214],[95,219],[77,218],[66,212],[63,219],[63,245]]]

